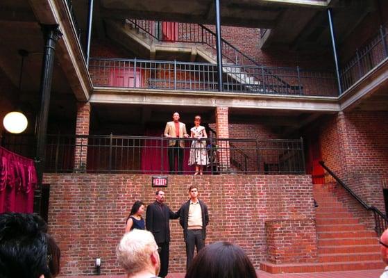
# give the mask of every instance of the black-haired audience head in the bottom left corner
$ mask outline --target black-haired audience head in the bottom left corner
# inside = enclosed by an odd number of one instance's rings
[[[60,250],[39,215],[0,214],[0,277],[55,277]]]

